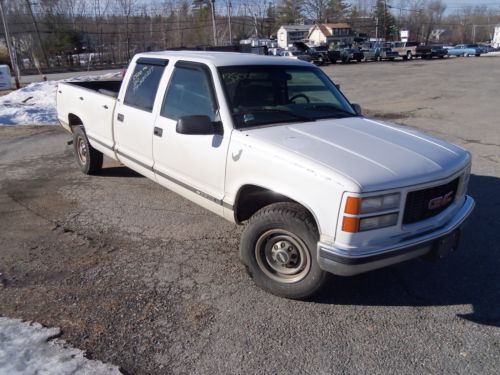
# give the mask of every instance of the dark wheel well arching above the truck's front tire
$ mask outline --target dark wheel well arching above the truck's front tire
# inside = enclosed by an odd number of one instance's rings
[[[260,186],[245,185],[240,189],[238,195],[236,196],[234,206],[234,216],[236,222],[241,223],[246,221],[261,208],[279,202],[292,202],[304,207],[304,205],[283,194],[276,193]],[[316,227],[318,227],[318,223],[316,222],[316,218],[312,212],[307,207],[304,208],[311,214]]]

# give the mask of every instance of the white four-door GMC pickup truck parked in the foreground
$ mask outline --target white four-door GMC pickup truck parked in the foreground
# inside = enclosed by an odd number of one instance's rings
[[[106,155],[246,224],[241,260],[279,296],[440,258],[474,207],[467,151],[363,117],[299,60],[139,54],[123,82],[60,83],[57,112],[84,173]]]

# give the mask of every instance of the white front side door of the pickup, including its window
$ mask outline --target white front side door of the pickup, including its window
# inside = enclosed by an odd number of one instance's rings
[[[176,131],[184,116],[208,116],[219,134]],[[201,63],[178,61],[165,89],[153,136],[156,179],[162,185],[222,213],[229,134],[223,134],[212,72]]]

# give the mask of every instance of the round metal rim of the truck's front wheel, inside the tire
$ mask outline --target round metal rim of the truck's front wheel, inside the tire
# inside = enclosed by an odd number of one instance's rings
[[[269,230],[258,238],[255,258],[262,272],[280,283],[301,281],[311,269],[311,255],[306,244],[283,229]]]

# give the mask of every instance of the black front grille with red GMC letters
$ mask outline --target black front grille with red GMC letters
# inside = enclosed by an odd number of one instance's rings
[[[406,196],[403,224],[416,223],[446,210],[455,200],[458,181],[459,179],[456,178],[446,185],[434,186],[429,189],[408,193]]]

